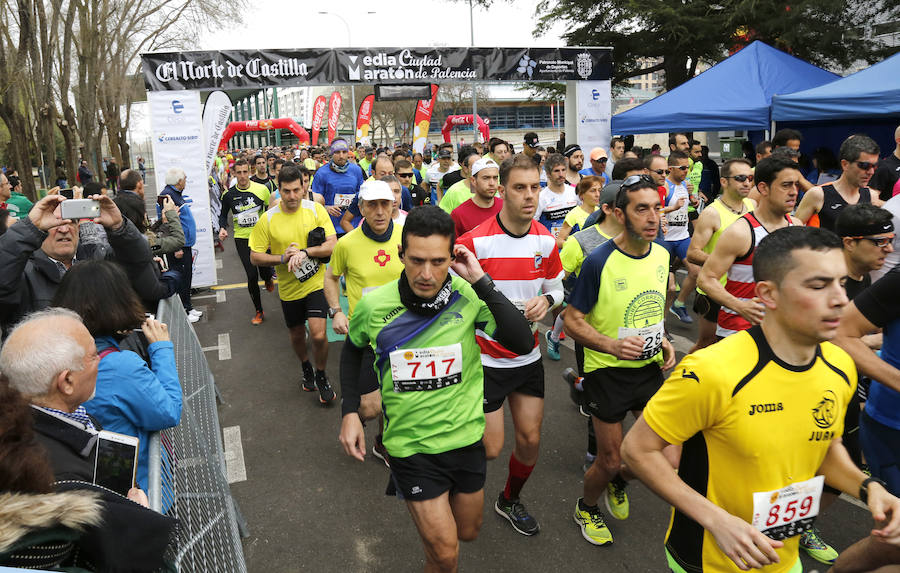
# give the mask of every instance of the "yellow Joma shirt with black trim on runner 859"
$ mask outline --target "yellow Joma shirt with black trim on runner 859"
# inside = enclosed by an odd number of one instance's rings
[[[810,364],[792,366],[754,326],[685,356],[650,399],[644,419],[662,439],[683,444],[678,475],[685,483],[752,523],[754,493],[815,477],[831,440],[843,433],[855,391],[856,367],[837,346],[823,342]],[[765,510],[757,513],[766,517]],[[783,541],[780,562],[761,571],[796,567],[799,536]],[[677,510],[666,552],[676,572],[739,571],[712,534]]]

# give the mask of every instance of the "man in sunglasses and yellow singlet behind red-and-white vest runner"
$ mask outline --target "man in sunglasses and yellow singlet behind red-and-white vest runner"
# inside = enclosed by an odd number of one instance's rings
[[[729,159],[722,164],[722,194],[704,209],[694,221],[694,235],[688,247],[688,261],[699,267],[703,266],[710,253],[719,242],[719,237],[732,223],[754,208],[754,203],[747,199],[753,189],[753,167],[744,158]],[[722,285],[725,285],[723,279]],[[700,328],[697,342],[691,348],[696,352],[716,341],[716,324],[719,317],[719,303],[709,298],[703,289],[697,289],[694,299],[694,312],[700,317]]]

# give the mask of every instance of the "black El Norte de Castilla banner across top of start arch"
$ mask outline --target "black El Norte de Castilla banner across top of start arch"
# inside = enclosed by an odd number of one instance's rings
[[[608,80],[612,48],[338,48],[142,54],[148,91]]]

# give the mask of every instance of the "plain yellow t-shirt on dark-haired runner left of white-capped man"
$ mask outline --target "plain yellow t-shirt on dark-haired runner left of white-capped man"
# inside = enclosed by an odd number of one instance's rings
[[[296,243],[301,249],[306,248],[306,238],[316,227],[325,229],[325,237],[334,236],[334,225],[325,207],[303,199],[300,208],[294,213],[285,213],[281,205],[272,207],[260,218],[250,234],[250,250],[265,253],[270,249],[273,255],[281,255]],[[322,290],[325,286],[325,265],[320,264],[316,273],[300,282],[287,265],[276,265],[278,274],[278,296],[281,300],[299,300],[309,293]]]

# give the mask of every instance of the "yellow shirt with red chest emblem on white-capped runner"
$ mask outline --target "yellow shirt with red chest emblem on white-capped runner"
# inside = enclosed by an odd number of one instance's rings
[[[370,239],[362,231],[362,225],[340,239],[331,253],[331,272],[347,279],[347,301],[353,309],[360,298],[385,283],[397,280],[403,263],[397,254],[403,227],[394,225],[391,238],[384,243]]]

